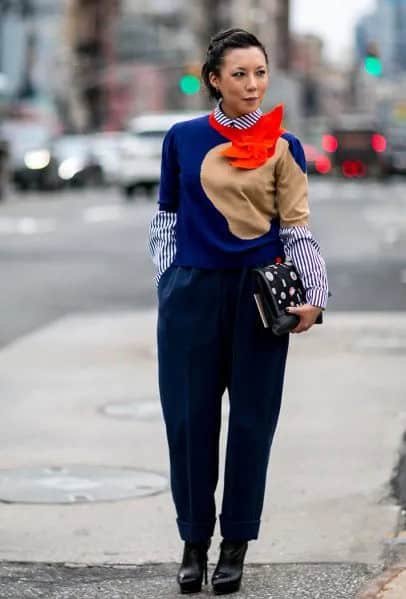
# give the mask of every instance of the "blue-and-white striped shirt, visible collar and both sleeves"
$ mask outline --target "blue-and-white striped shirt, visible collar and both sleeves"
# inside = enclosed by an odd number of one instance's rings
[[[221,110],[221,104],[214,109],[215,119],[227,127],[248,129],[261,117],[258,109],[249,114],[230,119]],[[155,277],[158,284],[162,273],[172,264],[176,253],[176,212],[158,210],[149,230],[149,249],[157,267]],[[307,226],[281,227],[279,237],[284,252],[290,256],[296,267],[306,292],[306,302],[325,308],[328,299],[328,280],[325,262],[320,254],[320,246]]]

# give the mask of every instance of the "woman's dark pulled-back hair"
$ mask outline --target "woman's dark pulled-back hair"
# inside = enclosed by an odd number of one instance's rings
[[[224,60],[224,55],[227,50],[233,48],[251,48],[252,46],[262,50],[268,64],[268,54],[265,46],[261,44],[259,39],[253,33],[245,31],[245,29],[227,29],[213,35],[207,48],[206,62],[202,66],[201,76],[210,97],[218,100],[221,98],[221,93],[212,86],[209,80],[209,74],[220,74],[220,67]]]

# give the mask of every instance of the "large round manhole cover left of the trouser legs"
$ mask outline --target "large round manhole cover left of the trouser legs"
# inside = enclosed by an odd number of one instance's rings
[[[0,501],[88,503],[156,495],[167,478],[156,472],[108,466],[51,466],[0,470]]]

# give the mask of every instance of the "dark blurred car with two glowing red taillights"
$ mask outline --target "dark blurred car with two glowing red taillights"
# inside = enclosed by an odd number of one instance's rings
[[[365,115],[342,115],[323,136],[334,174],[349,178],[382,177],[387,169],[387,140]]]

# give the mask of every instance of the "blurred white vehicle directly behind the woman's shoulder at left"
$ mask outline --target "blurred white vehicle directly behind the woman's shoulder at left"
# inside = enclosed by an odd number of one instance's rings
[[[166,132],[180,121],[205,112],[150,113],[134,117],[120,145],[117,183],[127,199],[138,190],[151,193],[159,184],[161,150]]]

